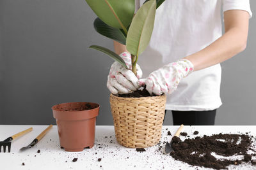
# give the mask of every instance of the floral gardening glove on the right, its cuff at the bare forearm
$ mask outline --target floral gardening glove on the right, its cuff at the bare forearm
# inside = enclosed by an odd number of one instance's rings
[[[177,89],[180,80],[192,73],[193,69],[189,60],[181,59],[153,71],[148,78],[140,79],[139,85],[146,85],[150,94],[171,94]]]

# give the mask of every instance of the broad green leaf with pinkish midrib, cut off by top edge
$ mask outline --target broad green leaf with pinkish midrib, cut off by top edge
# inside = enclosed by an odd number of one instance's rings
[[[134,0],[86,0],[96,15],[111,27],[124,29],[131,24],[134,15]]]

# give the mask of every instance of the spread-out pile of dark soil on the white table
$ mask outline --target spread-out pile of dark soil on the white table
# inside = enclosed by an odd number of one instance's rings
[[[182,162],[192,166],[209,167],[213,169],[227,169],[229,165],[239,165],[243,162],[251,162],[252,156],[255,156],[255,150],[252,149],[252,136],[247,134],[214,134],[212,136],[204,135],[203,138],[197,136],[195,139],[177,140],[172,144],[174,152],[170,155]],[[247,152],[252,150],[253,154]],[[243,155],[242,160],[216,159],[212,155],[230,157],[232,155]]]

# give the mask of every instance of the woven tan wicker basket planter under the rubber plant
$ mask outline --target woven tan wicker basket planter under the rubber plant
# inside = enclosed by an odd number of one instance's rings
[[[116,140],[128,148],[146,148],[159,143],[166,96],[117,97],[110,95]]]

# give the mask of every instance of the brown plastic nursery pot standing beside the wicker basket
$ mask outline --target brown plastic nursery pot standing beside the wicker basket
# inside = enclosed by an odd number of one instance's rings
[[[61,147],[68,152],[80,152],[93,147],[99,104],[62,103],[52,106],[52,112],[58,125]]]

